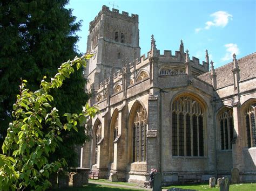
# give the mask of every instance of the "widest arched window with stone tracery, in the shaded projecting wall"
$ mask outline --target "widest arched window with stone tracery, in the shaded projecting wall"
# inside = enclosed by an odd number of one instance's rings
[[[204,110],[190,96],[172,104],[172,155],[204,156]]]

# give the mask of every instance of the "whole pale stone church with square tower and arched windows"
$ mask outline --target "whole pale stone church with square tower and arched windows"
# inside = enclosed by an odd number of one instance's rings
[[[241,181],[255,182],[256,53],[214,69],[207,50],[201,63],[182,40],[160,54],[152,36],[141,56],[138,22],[105,5],[90,22],[86,89],[100,112],[87,124],[82,167],[129,182],[144,182],[151,168],[164,182],[237,168]]]

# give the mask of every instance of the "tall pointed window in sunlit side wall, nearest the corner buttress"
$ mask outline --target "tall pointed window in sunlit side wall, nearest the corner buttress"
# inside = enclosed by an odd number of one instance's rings
[[[146,111],[144,110],[142,105],[139,104],[133,120],[133,162],[146,161],[146,131]]]

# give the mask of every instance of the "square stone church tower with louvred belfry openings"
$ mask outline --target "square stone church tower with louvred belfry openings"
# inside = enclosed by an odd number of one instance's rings
[[[87,89],[98,87],[110,73],[122,69],[124,63],[139,58],[139,16],[131,15],[107,6],[102,7],[90,22],[87,52],[95,57],[87,63],[85,75],[89,80]]]

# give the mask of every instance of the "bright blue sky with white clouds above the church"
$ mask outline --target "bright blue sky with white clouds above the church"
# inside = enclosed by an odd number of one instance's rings
[[[141,55],[150,49],[151,35],[157,48],[179,49],[180,40],[188,49],[190,58],[195,56],[200,63],[205,60],[208,49],[210,60],[219,67],[256,51],[256,1],[255,0],[116,0],[119,12],[139,15]],[[73,9],[73,16],[83,20],[77,34],[80,52],[86,52],[89,23],[102,9],[112,10],[113,1],[70,0],[67,8]]]

